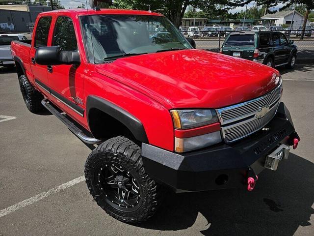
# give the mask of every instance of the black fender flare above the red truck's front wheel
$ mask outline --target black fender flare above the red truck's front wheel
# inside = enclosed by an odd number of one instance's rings
[[[148,143],[148,138],[144,126],[138,118],[134,117],[121,107],[118,107],[117,105],[105,100],[104,98],[95,95],[89,95],[86,101],[86,115],[89,127],[89,112],[93,108],[96,108],[123,123],[128,129],[130,129],[133,136],[138,141]]]

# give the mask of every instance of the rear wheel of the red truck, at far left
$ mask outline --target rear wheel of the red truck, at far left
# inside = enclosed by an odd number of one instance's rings
[[[25,75],[20,76],[19,84],[27,109],[33,113],[42,110],[43,106],[41,101],[44,97],[39,91],[32,87]]]

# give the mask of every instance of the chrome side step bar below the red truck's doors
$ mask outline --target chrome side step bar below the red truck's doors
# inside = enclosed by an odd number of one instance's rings
[[[45,98],[41,101],[41,104],[45,108],[47,108],[48,111],[50,111],[54,116],[59,118],[78,138],[83,141],[86,144],[100,144],[103,141],[99,139],[95,139],[94,137],[87,136],[81,128],[79,128],[75,123],[73,123],[71,120],[69,120],[65,115],[60,113],[58,110],[56,110],[50,103],[50,101]]]

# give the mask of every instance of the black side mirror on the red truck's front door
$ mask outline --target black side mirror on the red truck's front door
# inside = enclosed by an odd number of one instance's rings
[[[35,53],[39,65],[72,65],[79,64],[78,51],[61,51],[60,47],[39,47]]]

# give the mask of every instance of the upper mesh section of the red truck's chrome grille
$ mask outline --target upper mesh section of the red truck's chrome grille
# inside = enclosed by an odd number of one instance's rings
[[[247,118],[256,114],[260,107],[272,106],[275,104],[281,95],[282,84],[273,89],[271,92],[262,97],[240,103],[234,106],[218,109],[218,115],[221,124],[228,124],[239,119]]]

